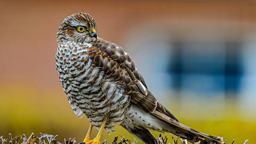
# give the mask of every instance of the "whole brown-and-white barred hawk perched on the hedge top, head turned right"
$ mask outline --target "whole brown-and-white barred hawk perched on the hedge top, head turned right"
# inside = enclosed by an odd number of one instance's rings
[[[58,30],[55,55],[60,82],[74,113],[91,125],[85,143],[100,143],[101,132],[122,125],[145,143],[155,143],[149,129],[167,132],[189,142],[223,143],[222,138],[198,132],[178,122],[154,95],[130,55],[97,36],[96,23],[87,13],[66,17]],[[99,132],[90,140],[95,127]]]

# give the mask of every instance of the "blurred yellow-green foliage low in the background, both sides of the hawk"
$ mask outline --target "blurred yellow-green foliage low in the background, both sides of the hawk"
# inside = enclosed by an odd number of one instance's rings
[[[13,88],[15,87],[15,89]],[[39,132],[59,135],[58,139],[76,138],[82,141],[89,127],[89,121],[84,116],[77,118],[71,110],[65,94],[62,91],[41,91],[31,87],[9,86],[0,88],[0,135],[7,137],[8,133],[13,136],[25,133],[30,135]],[[175,101],[175,100],[174,100]],[[245,121],[245,117],[239,116],[239,111],[233,104],[223,109],[221,118],[209,119],[201,115],[190,117],[186,111],[179,111],[179,103],[173,102],[168,107],[179,121],[198,131],[224,137],[224,140],[243,143],[249,139],[249,143],[256,141],[255,121]],[[235,105],[235,104],[234,104]],[[191,109],[191,108],[190,108]],[[210,113],[210,112],[209,112]],[[198,118],[202,117],[202,118]],[[250,120],[250,119],[249,119]],[[108,135],[103,132],[101,139],[111,141],[115,135],[133,139],[133,135],[123,127],[117,126],[116,133]],[[153,132],[158,136],[158,132]],[[97,131],[93,130],[91,138]],[[172,135],[169,135],[169,140]]]

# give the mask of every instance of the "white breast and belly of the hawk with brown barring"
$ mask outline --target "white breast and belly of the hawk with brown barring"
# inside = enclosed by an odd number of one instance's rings
[[[101,68],[93,65],[88,49],[90,45],[59,44],[56,63],[60,82],[78,117],[85,114],[98,130],[108,118],[105,130],[114,131],[115,123],[123,123],[130,96]]]

